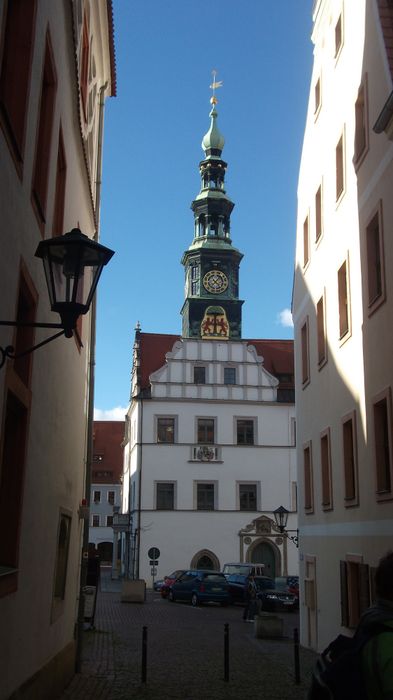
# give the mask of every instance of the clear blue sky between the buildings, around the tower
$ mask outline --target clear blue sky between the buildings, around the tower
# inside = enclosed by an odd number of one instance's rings
[[[312,0],[114,0],[117,97],[107,100],[95,406],[121,419],[134,328],[181,332],[212,70],[244,338],[291,338],[296,188],[312,66]],[[284,312],[284,313],[283,313]],[[117,409],[117,410],[116,410]]]

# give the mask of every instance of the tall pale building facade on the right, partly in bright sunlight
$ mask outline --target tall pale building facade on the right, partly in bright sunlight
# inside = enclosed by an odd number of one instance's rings
[[[293,318],[301,642],[315,649],[354,629],[393,541],[393,144],[373,130],[392,92],[391,12],[313,10]]]

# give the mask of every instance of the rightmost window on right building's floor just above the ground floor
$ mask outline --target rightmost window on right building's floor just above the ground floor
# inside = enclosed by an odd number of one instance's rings
[[[375,468],[380,500],[392,495],[392,416],[390,389],[373,403]]]

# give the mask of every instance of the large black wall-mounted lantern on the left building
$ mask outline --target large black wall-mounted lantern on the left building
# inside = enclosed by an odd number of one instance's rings
[[[72,338],[74,332],[77,332],[76,322],[79,316],[88,312],[102,269],[113,254],[113,250],[96,243],[78,228],[38,244],[35,256],[42,259],[51,310],[60,315],[61,322],[0,321],[0,326],[61,330],[18,356],[12,345],[0,347],[0,369],[8,357],[15,359],[28,355],[61,335]]]

